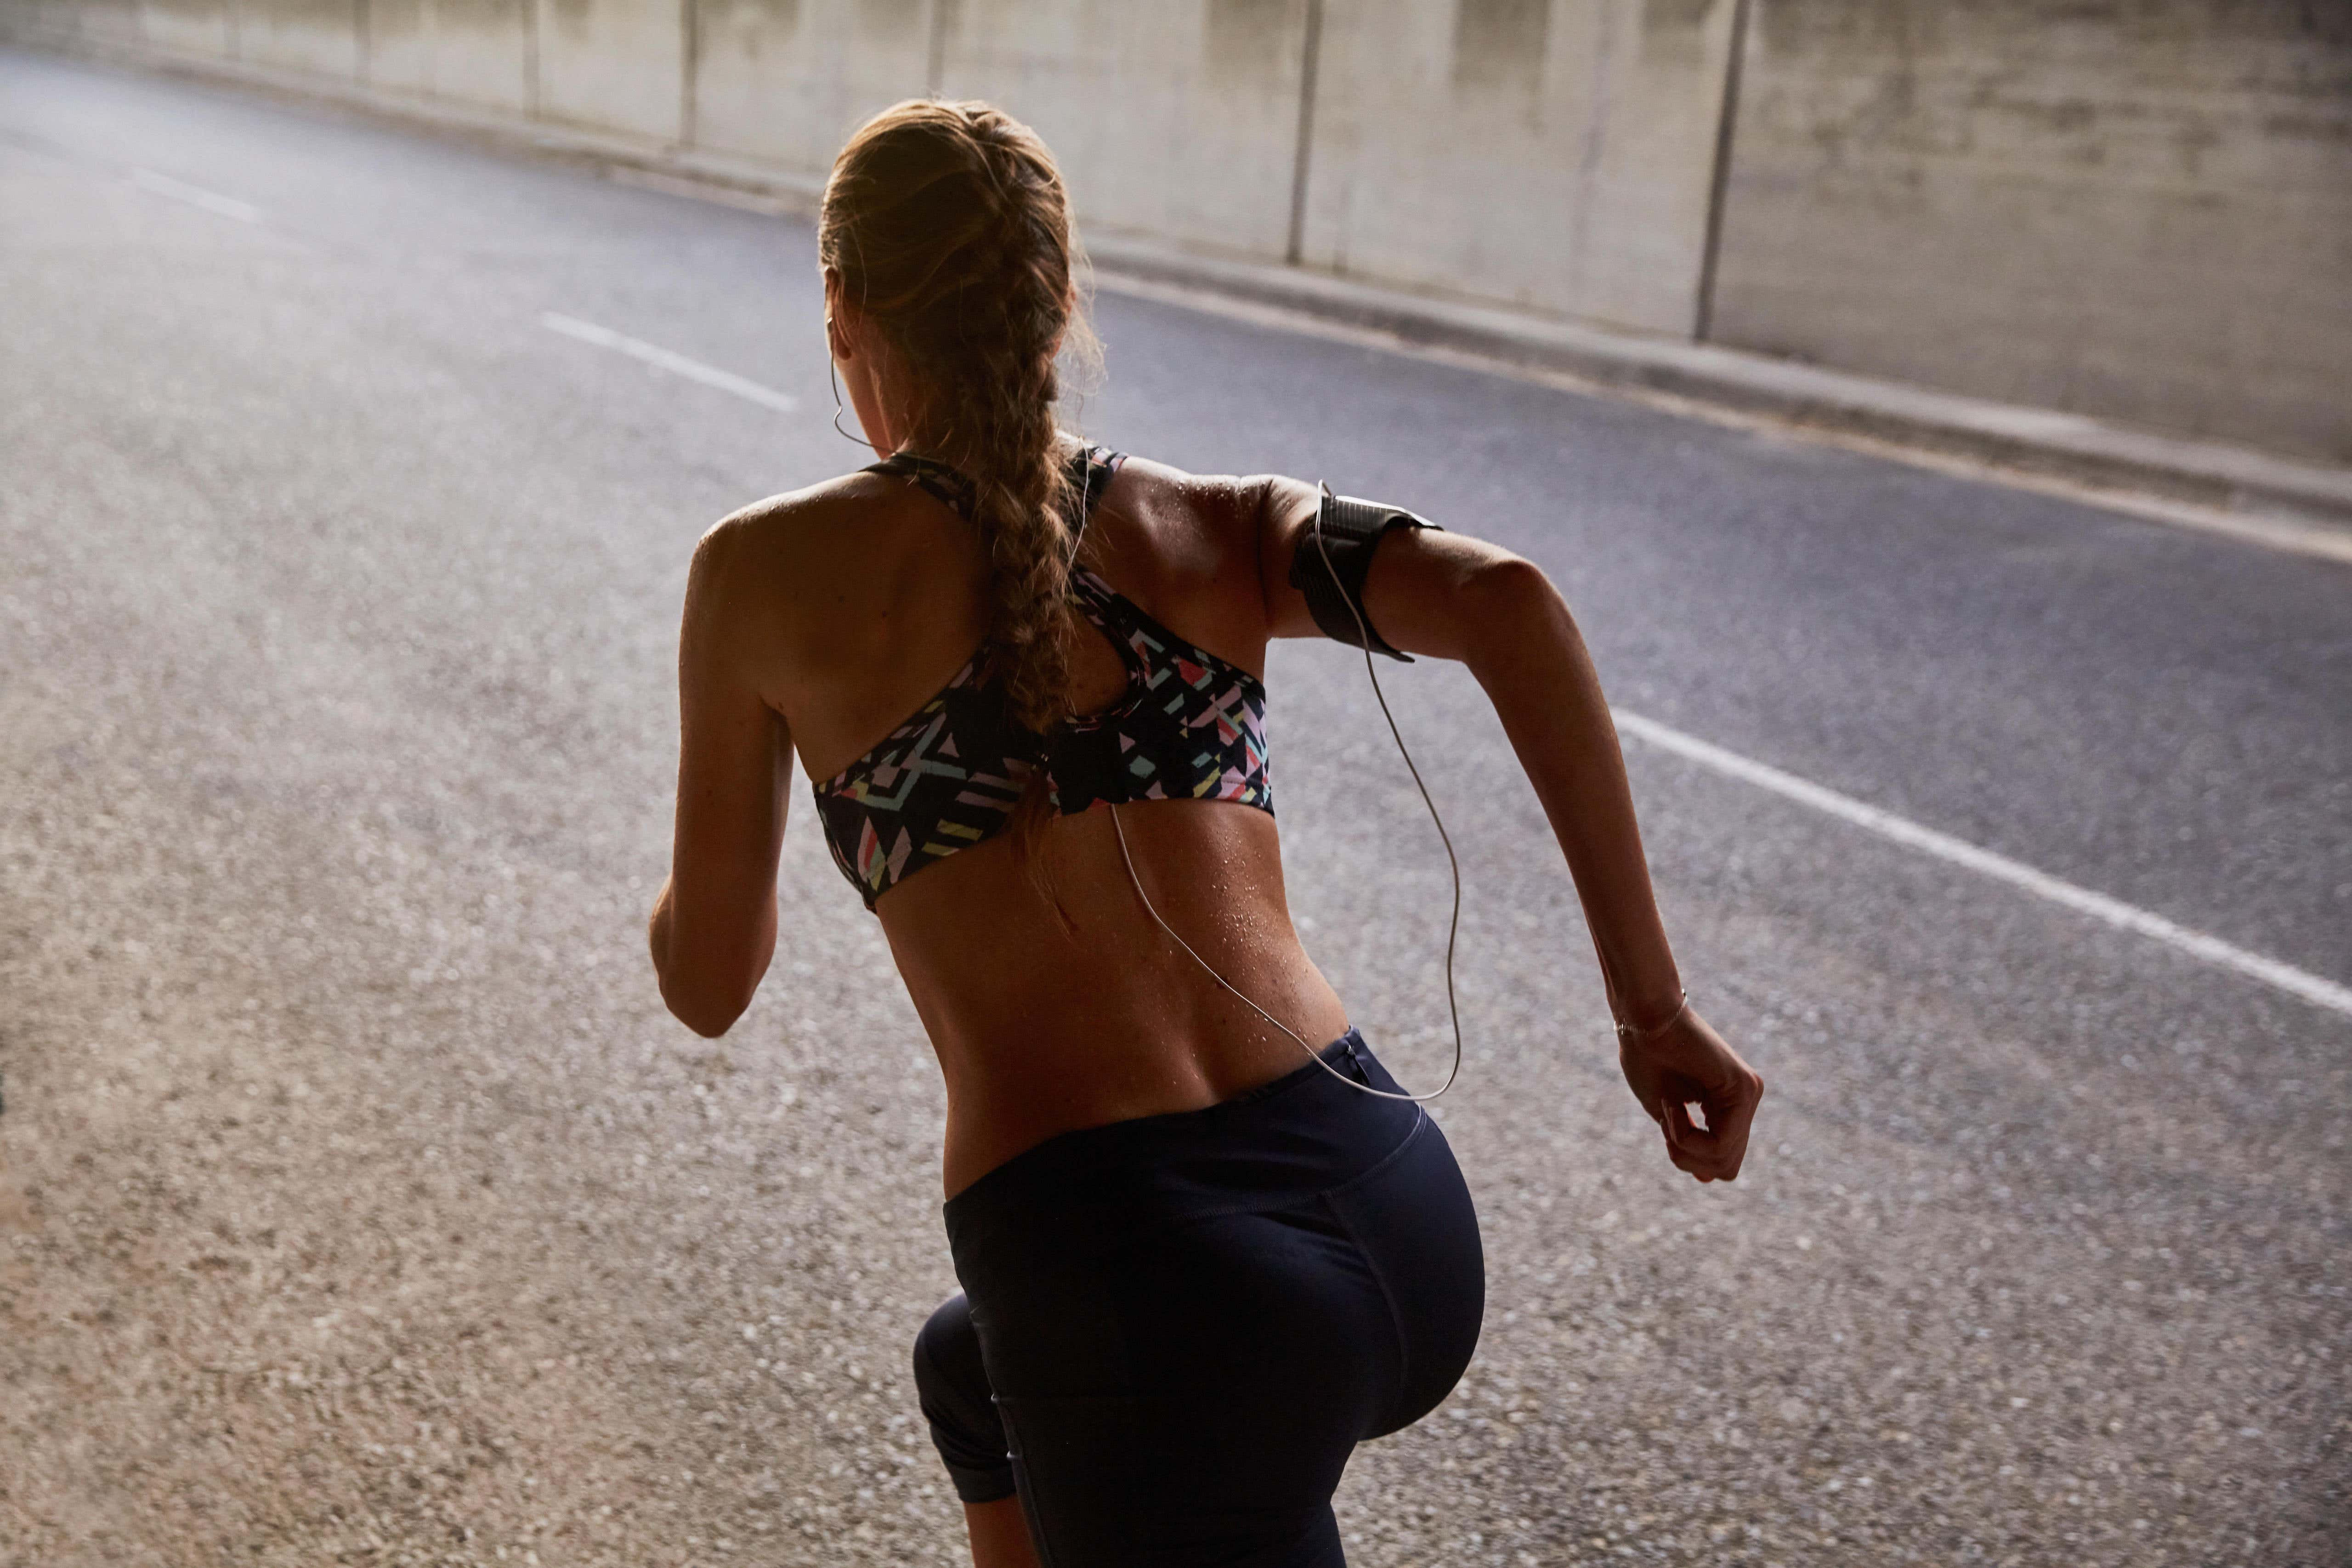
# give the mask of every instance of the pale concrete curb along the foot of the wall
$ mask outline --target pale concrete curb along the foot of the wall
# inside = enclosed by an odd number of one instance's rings
[[[61,35],[42,26],[0,28],[0,40],[139,71],[261,87],[310,103],[358,108],[407,127],[459,134],[536,158],[576,160],[635,186],[715,200],[779,216],[814,216],[823,176],[795,174],[616,132],[593,132],[515,113],[395,94],[301,71],[188,56]],[[1442,350],[1522,371],[1545,371],[1595,390],[1696,404],[1693,411],[1764,418],[1813,433],[1858,437],[1912,454],[1983,463],[2027,480],[2089,491],[2131,491],[2241,517],[2249,534],[2310,534],[2319,552],[2352,552],[2352,468],[2272,456],[2112,425],[2082,414],[1938,393],[1903,381],[1773,360],[1769,355],[1543,317],[1503,306],[1414,294],[1312,273],[1178,249],[1096,230],[1087,235],[1108,287],[1244,303]]]

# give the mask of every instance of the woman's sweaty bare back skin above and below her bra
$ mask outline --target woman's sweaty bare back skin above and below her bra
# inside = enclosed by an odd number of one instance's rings
[[[1258,482],[1129,461],[1087,524],[1082,559],[1152,618],[1261,675],[1263,503]],[[898,480],[861,473],[779,496],[720,536],[717,635],[811,780],[929,701],[985,630],[969,524]],[[1117,651],[1080,618],[1070,668],[1080,712],[1127,686]],[[1152,903],[1218,973],[1305,1039],[1345,1032],[1291,929],[1270,813],[1190,799],[1117,811]],[[875,905],[948,1079],[950,1194],[1054,1133],[1197,1110],[1301,1065],[1296,1041],[1152,924],[1105,809],[1049,820],[1037,858],[1042,879],[1000,835]]]

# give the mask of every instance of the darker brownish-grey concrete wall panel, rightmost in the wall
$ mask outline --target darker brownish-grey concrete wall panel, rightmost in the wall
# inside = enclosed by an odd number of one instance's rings
[[[2352,2],[1755,7],[1715,336],[2352,461]]]

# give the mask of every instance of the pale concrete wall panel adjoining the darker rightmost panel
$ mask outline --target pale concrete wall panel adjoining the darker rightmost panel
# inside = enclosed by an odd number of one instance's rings
[[[1691,331],[1733,0],[1348,0],[1303,261]]]

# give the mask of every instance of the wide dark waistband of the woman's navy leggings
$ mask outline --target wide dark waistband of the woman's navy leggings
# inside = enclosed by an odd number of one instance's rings
[[[1209,1211],[1305,1197],[1348,1180],[1402,1143],[1421,1107],[1359,1088],[1397,1084],[1352,1027],[1315,1056],[1216,1105],[1056,1133],[1014,1154],[941,1206],[950,1241],[1000,1215],[1138,1201]]]

